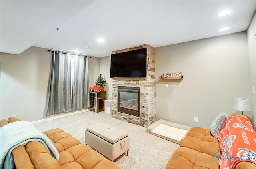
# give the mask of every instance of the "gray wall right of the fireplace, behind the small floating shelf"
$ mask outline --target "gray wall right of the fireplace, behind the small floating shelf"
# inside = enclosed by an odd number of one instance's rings
[[[236,112],[236,98],[250,99],[246,32],[158,47],[155,60],[156,78],[184,74],[156,80],[156,119],[210,128],[218,114]]]

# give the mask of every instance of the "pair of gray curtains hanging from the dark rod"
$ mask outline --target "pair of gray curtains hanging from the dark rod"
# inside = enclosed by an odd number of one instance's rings
[[[73,61],[71,80],[70,54],[53,52],[46,116],[90,107],[88,57],[74,56]]]

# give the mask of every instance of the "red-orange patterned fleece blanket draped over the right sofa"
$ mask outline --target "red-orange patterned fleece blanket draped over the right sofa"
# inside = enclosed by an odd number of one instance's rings
[[[242,161],[256,164],[256,133],[249,119],[229,117],[217,138],[220,169],[234,169]]]

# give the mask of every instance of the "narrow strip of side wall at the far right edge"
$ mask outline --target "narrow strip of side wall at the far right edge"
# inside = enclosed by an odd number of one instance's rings
[[[256,129],[256,98],[253,94],[252,87],[256,90],[256,13],[252,18],[249,28],[247,29],[248,42],[248,59],[250,71],[250,104],[252,108],[252,115],[254,118],[254,129]],[[256,92],[256,91],[255,91]],[[252,118],[252,119],[253,119]]]

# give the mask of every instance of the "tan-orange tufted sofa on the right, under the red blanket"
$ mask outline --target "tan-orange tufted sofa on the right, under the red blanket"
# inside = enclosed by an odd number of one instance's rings
[[[231,116],[239,114],[234,113]],[[210,130],[192,127],[180,142],[180,147],[174,151],[165,169],[219,169],[219,161],[214,160],[214,156],[221,155],[218,152],[219,147],[218,139],[212,136]],[[256,164],[244,161],[238,163],[234,169],[256,169]]]

